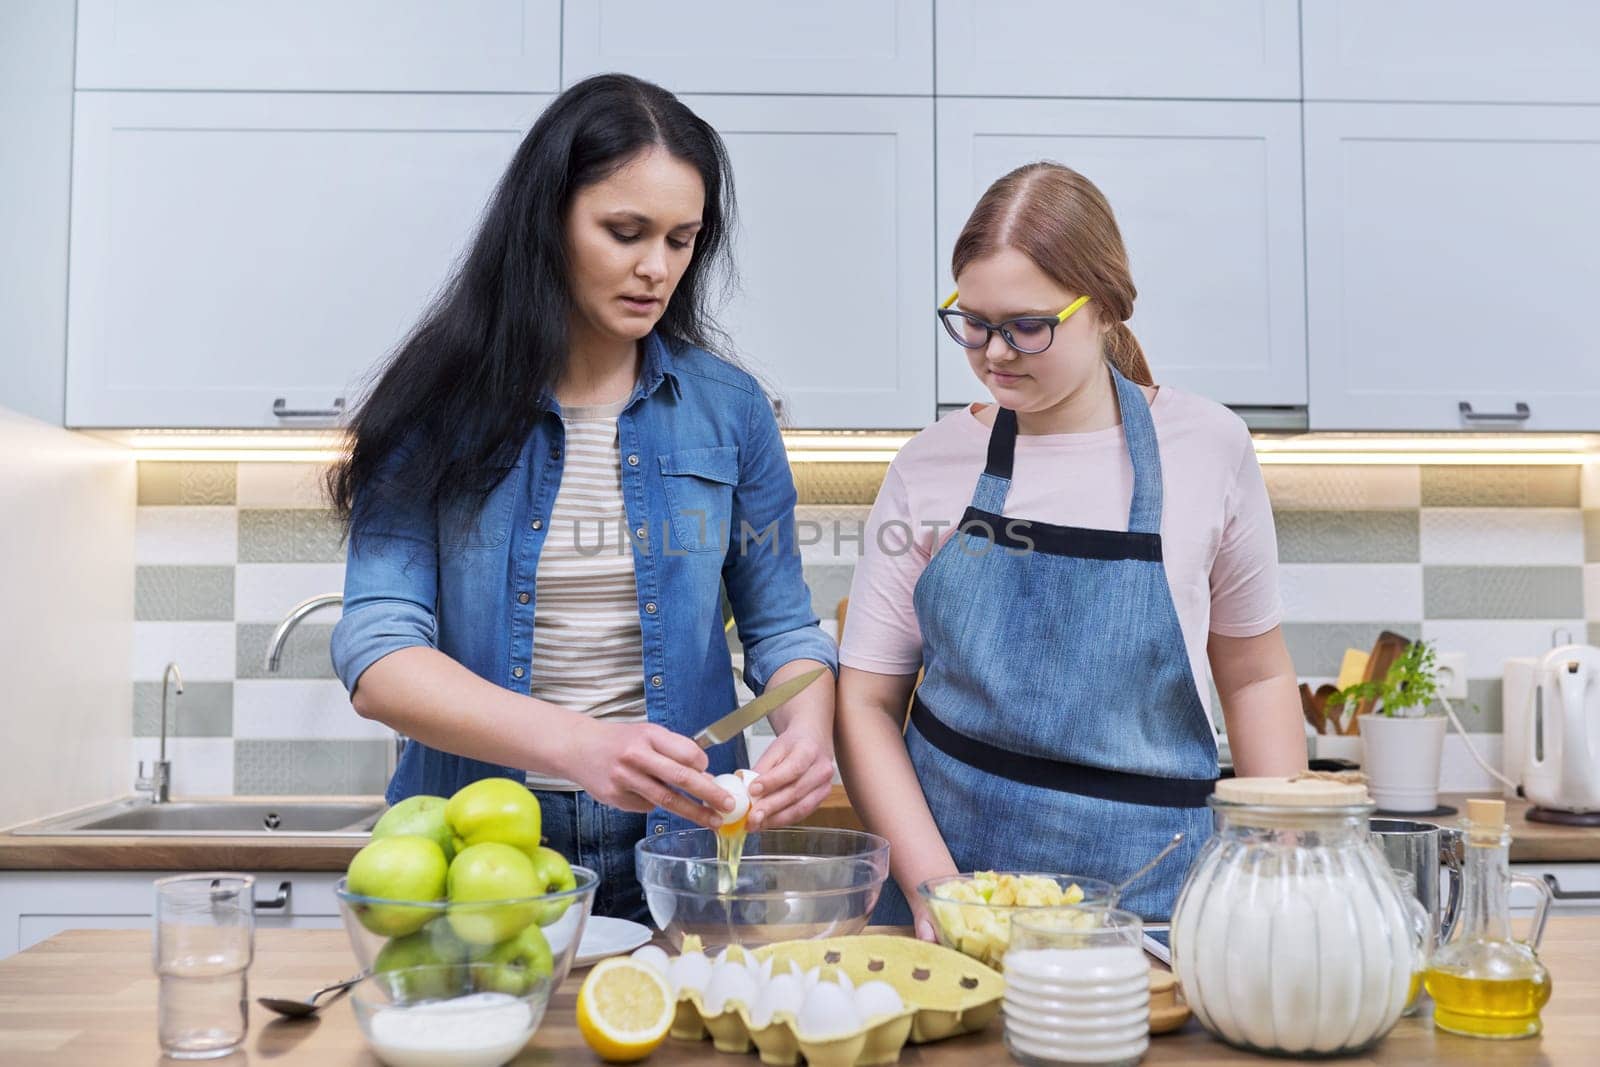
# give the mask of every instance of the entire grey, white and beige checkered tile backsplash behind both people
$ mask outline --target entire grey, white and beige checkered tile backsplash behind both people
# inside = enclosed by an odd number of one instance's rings
[[[184,672],[178,793],[381,792],[389,731],[350,710],[328,662],[330,609],[282,669],[274,625],[344,585],[338,526],[310,464],[139,464],[133,733],[155,752],[160,677]],[[832,619],[883,467],[797,467],[818,614]],[[1501,662],[1558,635],[1600,643],[1600,478],[1579,467],[1269,466],[1285,635],[1302,678],[1333,675],[1382,629],[1469,657],[1467,728],[1498,760]],[[1587,493],[1587,499],[1584,499]],[[1587,504],[1587,510],[1586,510]],[[1451,757],[1454,758],[1454,757]],[[1448,779],[1450,771],[1446,771]]]

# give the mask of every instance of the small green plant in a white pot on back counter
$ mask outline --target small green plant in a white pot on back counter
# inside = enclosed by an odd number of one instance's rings
[[[1434,646],[1413,641],[1382,678],[1360,681],[1328,697],[1330,707],[1371,701],[1358,715],[1362,769],[1384,811],[1432,811],[1438,806],[1438,765],[1448,720],[1438,704]]]

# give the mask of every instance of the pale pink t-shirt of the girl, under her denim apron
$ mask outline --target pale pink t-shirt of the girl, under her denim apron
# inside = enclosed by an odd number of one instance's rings
[[[989,450],[973,406],[914,437],[890,464],[867,518],[838,659],[875,673],[915,673],[922,629],[912,590],[971,502]],[[1202,704],[1206,633],[1256,637],[1278,624],[1277,533],[1243,421],[1162,386],[1150,403],[1162,448],[1162,550]],[[1021,435],[1005,515],[1059,526],[1126,530],[1133,464],[1122,427]]]

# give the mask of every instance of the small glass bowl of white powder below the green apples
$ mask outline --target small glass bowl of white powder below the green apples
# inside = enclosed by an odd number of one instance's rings
[[[554,990],[514,963],[427,965],[363,979],[350,1005],[389,1067],[499,1067],[539,1029]]]

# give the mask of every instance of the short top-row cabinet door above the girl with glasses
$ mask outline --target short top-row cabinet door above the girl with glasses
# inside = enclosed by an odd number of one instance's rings
[[[1294,0],[939,0],[938,91],[1299,98]]]

